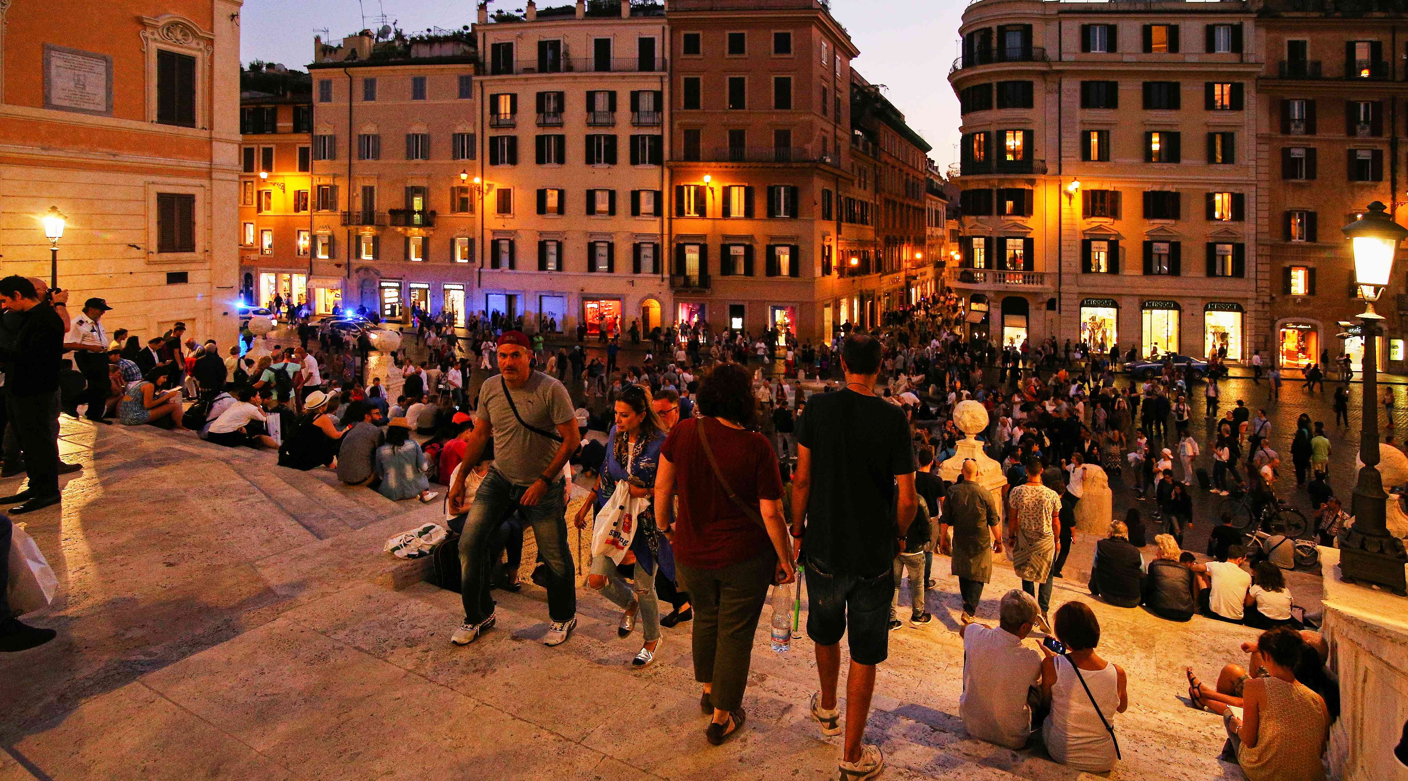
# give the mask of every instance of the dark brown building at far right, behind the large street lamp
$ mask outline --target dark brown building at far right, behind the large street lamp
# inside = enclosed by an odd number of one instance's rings
[[[1394,32],[1405,15],[1401,8],[1342,14],[1329,3],[1267,0],[1257,20],[1266,52],[1257,144],[1267,220],[1257,252],[1271,281],[1273,352],[1284,369],[1342,353],[1356,367],[1363,360],[1354,315],[1364,301],[1339,229],[1376,200],[1400,224],[1408,220],[1404,198],[1395,197],[1408,173],[1401,144],[1408,48]],[[1408,372],[1405,266],[1397,265],[1376,307],[1387,318],[1378,367],[1394,373]]]

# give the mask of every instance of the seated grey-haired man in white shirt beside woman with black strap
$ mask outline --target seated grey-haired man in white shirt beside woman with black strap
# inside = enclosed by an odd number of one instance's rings
[[[959,716],[969,735],[1007,749],[1021,749],[1032,733],[1028,697],[1041,684],[1042,649],[1022,640],[1038,621],[1036,601],[1019,588],[1002,597],[998,628],[967,623],[963,637],[963,695]],[[1038,646],[1041,647],[1041,646]]]

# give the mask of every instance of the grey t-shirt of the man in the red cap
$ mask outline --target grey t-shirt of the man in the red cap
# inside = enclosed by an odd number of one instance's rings
[[[531,485],[548,470],[562,443],[518,425],[504,397],[505,387],[501,376],[480,386],[477,417],[494,435],[494,469],[517,485]],[[576,422],[567,388],[542,372],[529,374],[513,394],[518,415],[534,428],[556,433],[559,424]]]

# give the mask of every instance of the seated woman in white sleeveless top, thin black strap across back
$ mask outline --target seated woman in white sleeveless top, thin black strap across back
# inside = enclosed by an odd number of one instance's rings
[[[1076,770],[1105,773],[1118,757],[1115,713],[1129,708],[1125,671],[1095,654],[1100,622],[1090,605],[1066,602],[1056,611],[1053,623],[1066,654],[1048,654],[1042,661],[1042,697],[1050,702],[1042,740],[1052,760]]]

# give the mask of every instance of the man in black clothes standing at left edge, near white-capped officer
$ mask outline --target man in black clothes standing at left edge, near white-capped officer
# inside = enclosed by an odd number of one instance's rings
[[[25,277],[0,279],[0,307],[6,310],[0,328],[6,412],[30,473],[25,490],[0,502],[21,501],[10,512],[23,514],[59,502],[59,446],[52,422],[58,415],[55,391],[66,329]]]

